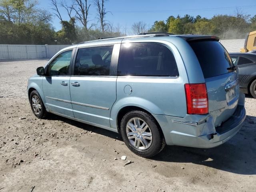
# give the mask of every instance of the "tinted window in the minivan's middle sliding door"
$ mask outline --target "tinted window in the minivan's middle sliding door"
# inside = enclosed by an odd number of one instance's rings
[[[76,56],[74,75],[108,76],[113,47],[79,49]]]

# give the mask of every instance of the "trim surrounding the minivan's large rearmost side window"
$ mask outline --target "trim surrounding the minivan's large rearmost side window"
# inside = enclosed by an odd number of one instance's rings
[[[149,76],[137,76],[137,75],[118,75],[117,74],[118,78],[162,78],[162,79],[166,78],[166,79],[177,79],[177,78],[180,77],[180,73],[179,73],[177,62],[176,62],[176,58],[175,58],[175,56],[172,52],[172,49],[168,45],[166,45],[162,42],[155,42],[155,41],[153,41],[153,42],[152,41],[138,41],[138,42],[137,41],[132,41],[132,42],[122,42],[121,46],[122,46],[122,44],[125,44],[125,43],[157,43],[157,44],[161,44],[163,46],[166,46],[166,48],[168,48],[170,50],[170,52],[172,53],[173,58],[175,60],[176,67],[177,67],[177,70],[178,70],[178,76],[150,76],[150,75]],[[120,46],[120,50],[121,50],[121,46]],[[119,58],[120,58],[120,51],[119,51],[118,61],[119,61]]]

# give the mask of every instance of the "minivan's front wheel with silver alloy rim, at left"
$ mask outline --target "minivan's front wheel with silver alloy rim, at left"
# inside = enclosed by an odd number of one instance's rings
[[[45,118],[47,111],[44,107],[44,103],[42,102],[42,98],[40,97],[39,93],[36,90],[32,91],[29,99],[30,106],[34,115],[39,119]]]

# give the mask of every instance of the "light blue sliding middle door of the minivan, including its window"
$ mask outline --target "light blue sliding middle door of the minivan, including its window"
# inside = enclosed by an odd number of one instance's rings
[[[116,46],[118,53],[119,46]],[[113,63],[117,64],[118,59],[114,56],[113,48],[101,46],[78,50],[74,75],[70,78],[75,118],[110,127],[110,110],[116,101],[116,71],[113,73]]]

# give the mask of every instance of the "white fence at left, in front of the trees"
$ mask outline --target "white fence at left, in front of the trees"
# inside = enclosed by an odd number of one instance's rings
[[[51,58],[70,45],[0,45],[0,61],[10,59]]]

